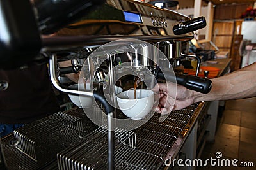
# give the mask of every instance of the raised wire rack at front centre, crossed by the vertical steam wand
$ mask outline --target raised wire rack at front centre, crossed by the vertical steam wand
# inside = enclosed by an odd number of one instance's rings
[[[85,141],[69,147],[57,154],[59,169],[102,169],[108,160],[108,131],[106,127],[99,127],[84,136]],[[134,132],[115,129],[116,148],[126,146],[136,148]]]

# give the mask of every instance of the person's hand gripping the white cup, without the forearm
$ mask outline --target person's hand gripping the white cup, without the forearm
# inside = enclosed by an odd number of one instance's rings
[[[186,106],[193,104],[195,100],[192,90],[188,90],[186,87],[176,85],[175,83],[159,83],[152,90],[159,92],[157,113],[166,114],[172,110],[186,108]]]

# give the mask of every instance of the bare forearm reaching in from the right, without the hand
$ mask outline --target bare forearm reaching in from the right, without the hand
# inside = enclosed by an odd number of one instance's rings
[[[256,63],[212,79],[209,94],[194,92],[195,101],[218,101],[256,96]]]

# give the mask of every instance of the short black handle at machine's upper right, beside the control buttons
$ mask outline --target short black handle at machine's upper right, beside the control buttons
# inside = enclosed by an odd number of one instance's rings
[[[193,32],[198,29],[202,29],[205,26],[206,26],[206,20],[205,20],[205,17],[202,16],[202,17],[194,18],[192,20],[188,20],[180,24],[174,25],[173,33],[175,35],[186,34],[188,32]]]

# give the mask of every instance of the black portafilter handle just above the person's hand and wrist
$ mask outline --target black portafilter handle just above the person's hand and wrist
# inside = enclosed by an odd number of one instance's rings
[[[184,85],[187,89],[204,94],[209,93],[212,89],[212,81],[207,78],[176,73],[175,76],[173,76],[173,74],[170,74],[170,71],[164,71],[163,69],[156,70],[156,78],[177,82],[177,84]]]

